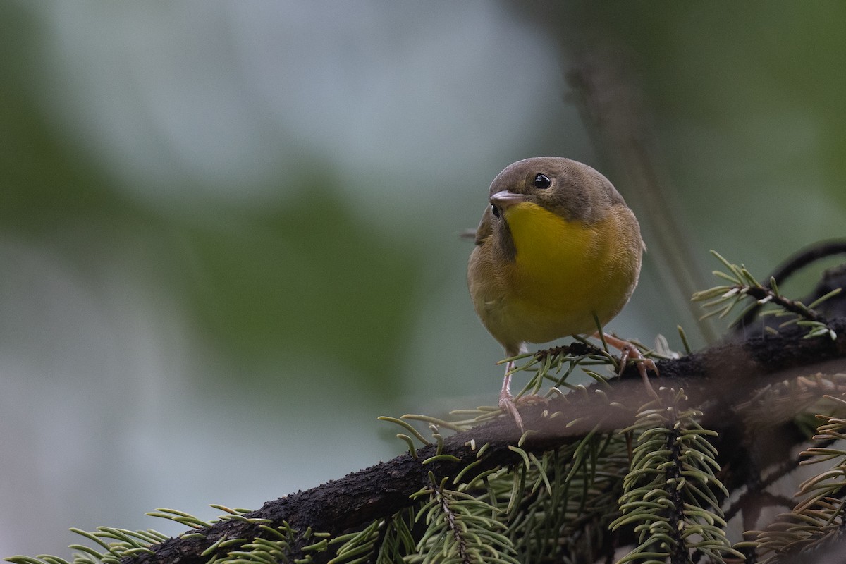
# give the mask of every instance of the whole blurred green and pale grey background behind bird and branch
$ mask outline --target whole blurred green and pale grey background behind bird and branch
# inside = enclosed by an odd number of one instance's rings
[[[846,4],[0,3],[0,555],[263,501],[403,450],[381,414],[495,401],[464,269],[526,156],[598,168],[565,76],[613,46],[666,205],[610,329],[846,226]],[[668,216],[672,217],[672,222]],[[689,249],[662,256],[672,223]],[[804,293],[804,290],[802,290]]]

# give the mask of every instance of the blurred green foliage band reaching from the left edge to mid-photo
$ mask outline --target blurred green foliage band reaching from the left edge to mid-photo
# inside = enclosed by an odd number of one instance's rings
[[[27,17],[22,11],[0,25],[8,41],[34,48]],[[25,79],[26,59],[3,57],[0,71]],[[297,186],[295,195],[260,211],[168,215],[114,189],[45,121],[29,86],[11,81],[0,89],[5,233],[52,248],[89,276],[107,257],[133,254],[147,275],[181,288],[201,333],[245,367],[274,351],[319,356],[365,375],[372,392],[396,392],[397,352],[419,298],[420,249],[384,238],[345,210],[343,178],[330,162],[303,163],[303,172],[279,178]]]

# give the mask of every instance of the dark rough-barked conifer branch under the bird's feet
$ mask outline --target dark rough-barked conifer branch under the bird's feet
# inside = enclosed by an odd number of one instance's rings
[[[777,336],[753,337],[745,342],[723,343],[693,353],[681,359],[662,360],[661,378],[656,380],[662,389],[683,387],[690,402],[704,408],[704,424],[721,431],[743,424],[734,406],[750,401],[763,386],[813,373],[844,371],[846,358],[846,320],[832,321],[838,337],[803,338],[805,332],[793,330]],[[594,385],[585,392],[573,392],[556,397],[547,404],[521,408],[527,429],[521,448],[526,452],[544,452],[565,446],[593,431],[618,430],[632,424],[637,409],[650,401],[634,366],[609,386]],[[244,515],[247,519],[267,519],[266,525],[277,527],[283,523],[298,531],[312,531],[332,535],[360,529],[374,519],[389,517],[412,505],[413,493],[430,484],[428,473],[438,477],[455,476],[468,464],[478,463],[463,476],[469,481],[491,468],[522,463],[519,455],[510,450],[519,441],[519,431],[508,418],[450,436],[444,441],[442,453],[455,459],[437,458],[423,463],[436,454],[436,446],[425,446],[415,460],[409,453],[379,463],[371,468],[348,474],[306,491],[268,501],[261,509]],[[481,447],[488,444],[482,457],[477,457],[470,441]],[[731,485],[728,485],[731,489]],[[209,528],[195,529],[189,538],[168,539],[152,548],[151,554],[124,559],[125,564],[201,564],[211,555],[201,556],[220,539],[253,539],[267,537],[260,524],[247,520],[228,520]],[[305,545],[294,545],[299,552]],[[225,553],[219,549],[218,553]]]

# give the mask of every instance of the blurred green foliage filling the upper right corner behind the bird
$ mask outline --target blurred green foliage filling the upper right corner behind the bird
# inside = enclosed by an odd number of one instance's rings
[[[611,43],[634,67],[688,236],[702,250],[749,247],[757,252],[744,256],[766,268],[785,244],[789,252],[838,234],[827,221],[832,209],[817,199],[846,211],[846,4],[662,0],[558,10],[572,30],[561,35],[567,47]],[[767,233],[750,221],[753,209],[782,214],[781,228]]]

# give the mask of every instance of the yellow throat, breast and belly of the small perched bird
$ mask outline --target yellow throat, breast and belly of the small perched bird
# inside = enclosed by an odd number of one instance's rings
[[[625,205],[585,223],[568,222],[524,202],[504,211],[504,219],[516,254],[504,261],[489,249],[484,270],[496,282],[480,288],[483,304],[476,309],[506,349],[592,333],[595,317],[605,324],[629,300],[640,273],[642,243]]]

